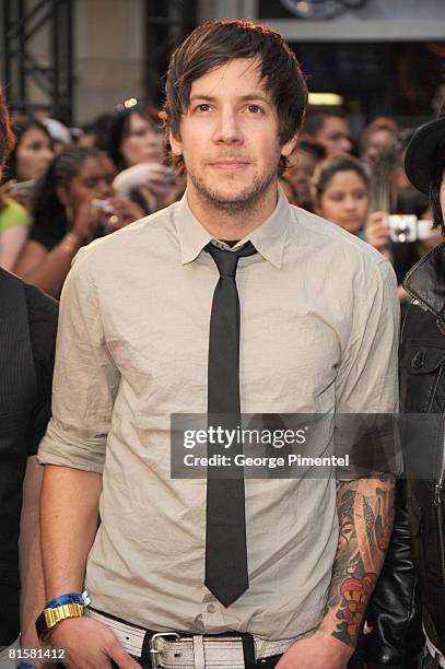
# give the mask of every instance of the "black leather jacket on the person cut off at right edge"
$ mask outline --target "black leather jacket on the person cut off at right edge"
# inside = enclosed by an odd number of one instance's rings
[[[370,667],[415,666],[421,618],[445,655],[445,243],[410,270],[403,286],[414,298],[400,345],[407,481],[398,481],[394,536],[366,615]]]

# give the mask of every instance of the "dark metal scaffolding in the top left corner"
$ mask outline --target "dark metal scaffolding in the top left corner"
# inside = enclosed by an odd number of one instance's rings
[[[28,93],[36,86],[43,105],[66,124],[72,120],[72,0],[0,0],[2,7],[2,84],[11,108],[30,110]],[[36,55],[40,37],[45,57]]]

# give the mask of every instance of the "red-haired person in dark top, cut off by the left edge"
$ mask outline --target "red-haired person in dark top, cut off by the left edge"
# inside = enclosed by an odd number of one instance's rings
[[[0,177],[13,143],[0,90]],[[35,454],[50,415],[56,327],[56,303],[0,268],[0,669],[19,665],[20,644],[38,645],[43,467]]]

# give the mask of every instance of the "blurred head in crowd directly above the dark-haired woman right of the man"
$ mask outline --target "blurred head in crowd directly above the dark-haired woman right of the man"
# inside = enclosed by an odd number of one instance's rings
[[[341,108],[309,107],[303,132],[325,146],[329,157],[350,153],[352,149],[348,119]]]

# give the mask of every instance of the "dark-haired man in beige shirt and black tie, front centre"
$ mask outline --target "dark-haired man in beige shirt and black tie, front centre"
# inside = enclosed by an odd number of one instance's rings
[[[306,98],[277,33],[198,27],[164,108],[185,197],[82,250],[69,274],[39,450],[57,615],[38,629],[70,669],[344,669],[353,653],[391,480],[349,476],[336,496],[329,478],[169,472],[172,413],[396,409],[390,266],[278,189]]]

